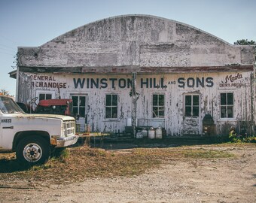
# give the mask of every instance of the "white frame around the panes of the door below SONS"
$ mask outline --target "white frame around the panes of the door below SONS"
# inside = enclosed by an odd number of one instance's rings
[[[190,105],[186,104],[186,98],[190,96]],[[198,96],[198,105],[194,105],[194,96]],[[187,114],[187,108],[190,107],[190,114]],[[194,108],[198,108],[198,112],[194,115]],[[200,94],[185,94],[184,95],[184,117],[200,117]]]

